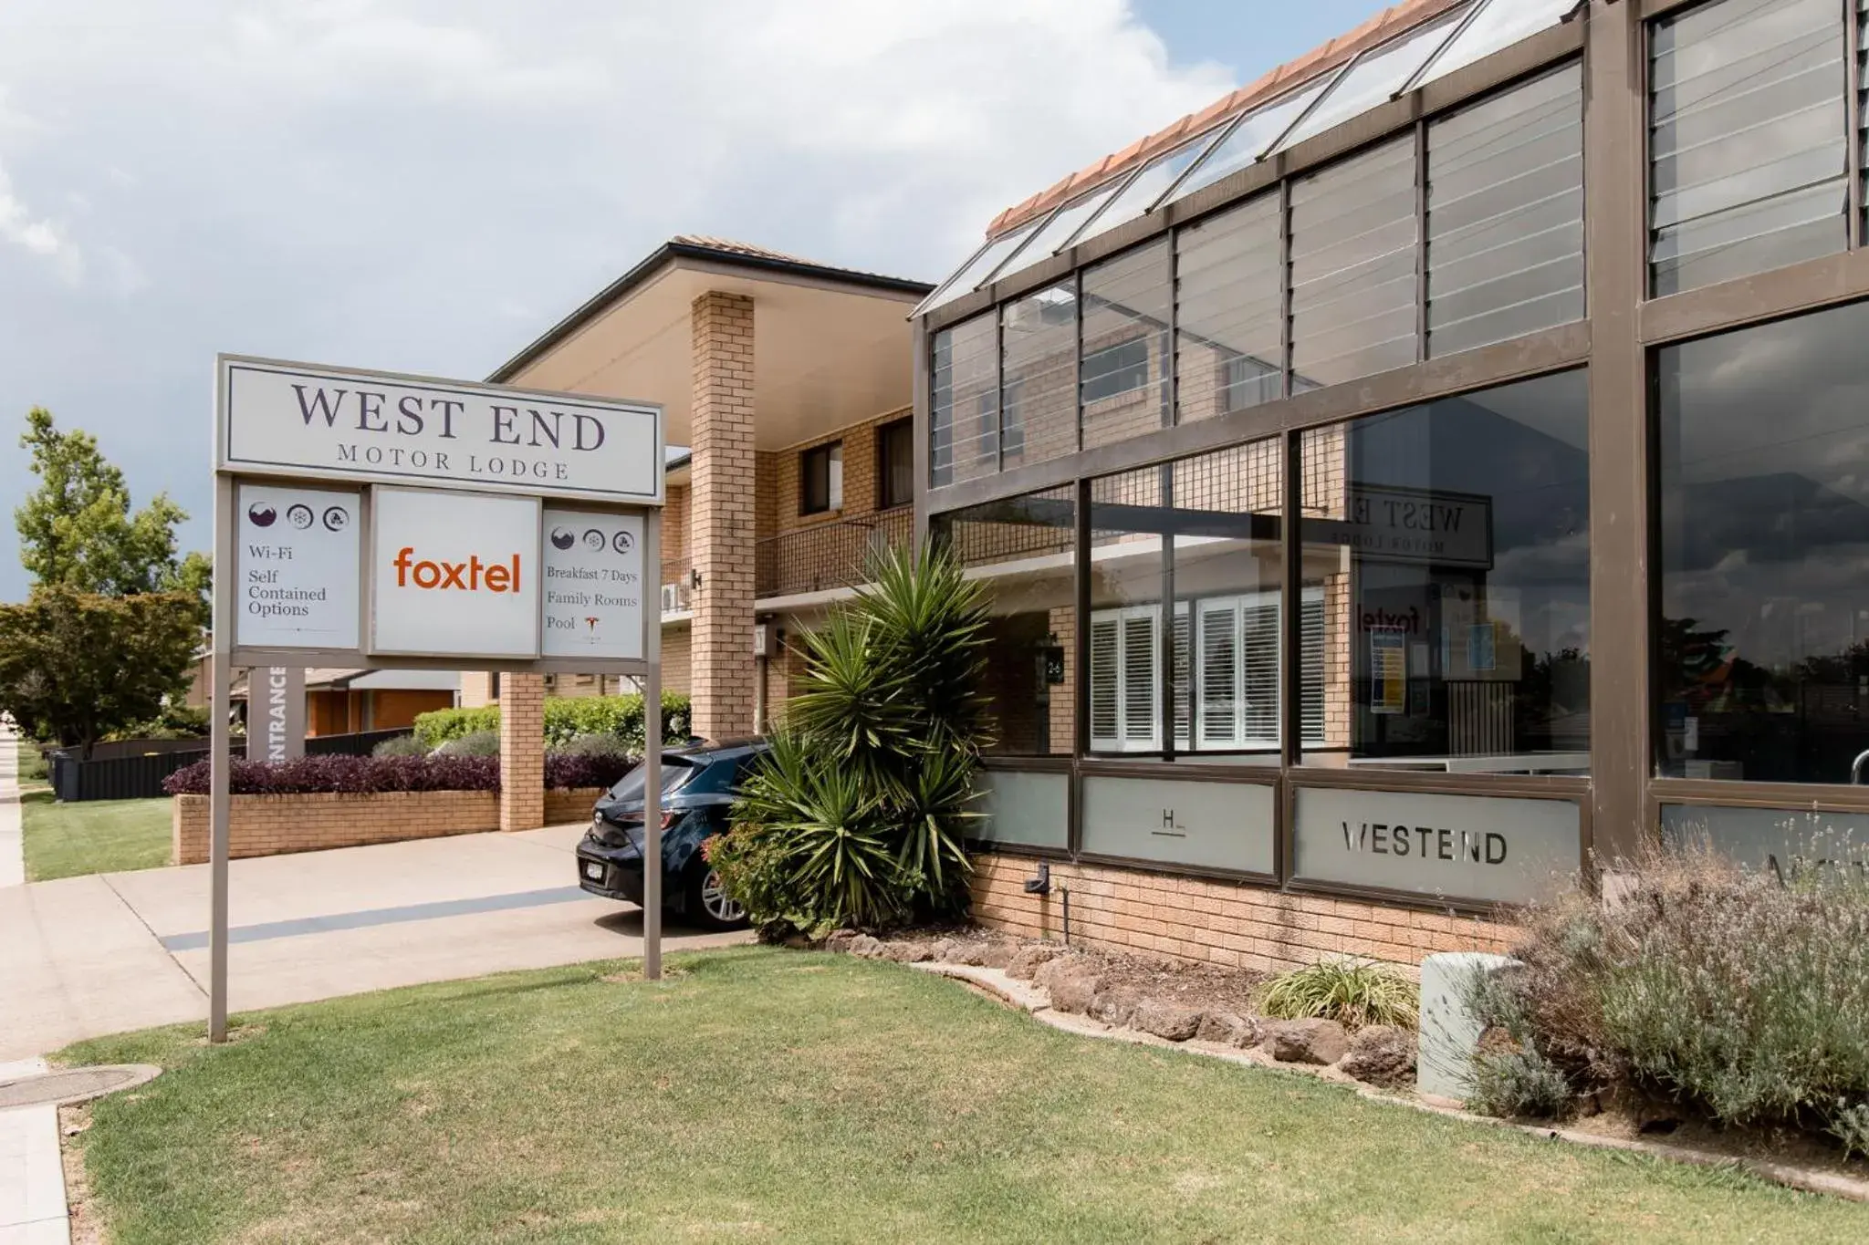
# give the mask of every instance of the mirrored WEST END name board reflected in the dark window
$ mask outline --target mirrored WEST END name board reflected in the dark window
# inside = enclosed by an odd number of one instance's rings
[[[1490,571],[1493,500],[1478,493],[1398,489],[1351,480],[1344,517],[1306,515],[1305,539],[1346,545],[1368,560]]]

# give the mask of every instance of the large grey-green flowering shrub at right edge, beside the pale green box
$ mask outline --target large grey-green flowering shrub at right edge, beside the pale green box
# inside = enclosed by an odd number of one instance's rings
[[[1576,894],[1519,924],[1523,969],[1475,1004],[1577,1090],[1863,1140],[1869,887],[1684,851],[1643,862],[1615,903]]]

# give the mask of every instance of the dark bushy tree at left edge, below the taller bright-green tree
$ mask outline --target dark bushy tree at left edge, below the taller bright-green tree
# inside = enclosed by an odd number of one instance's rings
[[[41,584],[24,605],[0,605],[0,711],[90,756],[181,691],[198,642],[198,601],[185,592],[110,597]]]

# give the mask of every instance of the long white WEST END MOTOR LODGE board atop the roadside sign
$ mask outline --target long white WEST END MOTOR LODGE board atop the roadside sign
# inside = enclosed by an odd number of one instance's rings
[[[222,355],[215,467],[660,506],[662,413]]]

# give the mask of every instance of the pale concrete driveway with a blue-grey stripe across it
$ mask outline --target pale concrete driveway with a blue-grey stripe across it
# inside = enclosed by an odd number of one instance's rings
[[[639,954],[641,911],[578,888],[583,829],[234,860],[230,1008]],[[0,1060],[206,1023],[206,864],[0,887]]]

